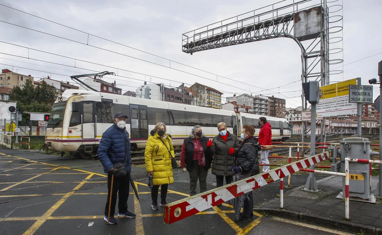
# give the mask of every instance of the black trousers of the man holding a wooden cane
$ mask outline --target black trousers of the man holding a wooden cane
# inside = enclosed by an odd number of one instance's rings
[[[107,175],[107,202],[105,206],[105,216],[108,216],[109,212],[109,201],[110,201],[110,186],[112,185],[112,175]],[[117,204],[117,192],[118,192],[118,212],[127,212],[127,200],[129,198],[129,187],[130,187],[130,174],[125,176],[115,177],[113,180],[113,192],[112,195],[112,205],[110,207],[110,216],[114,216],[115,204]]]

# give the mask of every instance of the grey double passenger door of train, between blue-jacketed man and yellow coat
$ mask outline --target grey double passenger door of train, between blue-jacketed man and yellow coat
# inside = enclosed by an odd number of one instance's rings
[[[130,104],[130,132],[131,139],[147,139],[149,136],[147,106]]]

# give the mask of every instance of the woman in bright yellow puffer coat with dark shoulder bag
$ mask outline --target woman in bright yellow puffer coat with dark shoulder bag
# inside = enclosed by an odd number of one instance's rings
[[[167,204],[166,196],[168,184],[174,182],[172,174],[171,158],[175,157],[171,135],[167,134],[164,123],[157,123],[147,139],[144,160],[146,170],[153,177],[151,188],[151,207],[158,210],[158,190],[160,187],[160,206]]]

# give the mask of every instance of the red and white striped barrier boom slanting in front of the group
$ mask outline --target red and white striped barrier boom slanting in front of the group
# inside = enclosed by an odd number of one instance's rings
[[[303,160],[295,161],[285,166],[267,171],[256,176],[251,176],[241,181],[224,185],[192,197],[174,201],[165,205],[164,222],[172,224],[188,216],[192,216],[220,203],[239,197],[264,185],[270,184],[290,174],[307,168],[311,165],[329,159],[329,152],[320,153]]]

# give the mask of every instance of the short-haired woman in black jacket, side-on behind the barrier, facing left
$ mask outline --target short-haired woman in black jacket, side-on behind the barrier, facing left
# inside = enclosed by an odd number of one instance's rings
[[[257,141],[255,128],[250,125],[243,126],[243,133],[238,151],[235,153],[235,165],[232,166],[232,171],[237,174],[236,181],[245,179],[251,176],[253,168],[259,168],[258,153],[261,145]],[[253,217],[253,194],[252,191],[246,194],[243,205],[243,213],[240,214],[236,222],[248,222]]]

